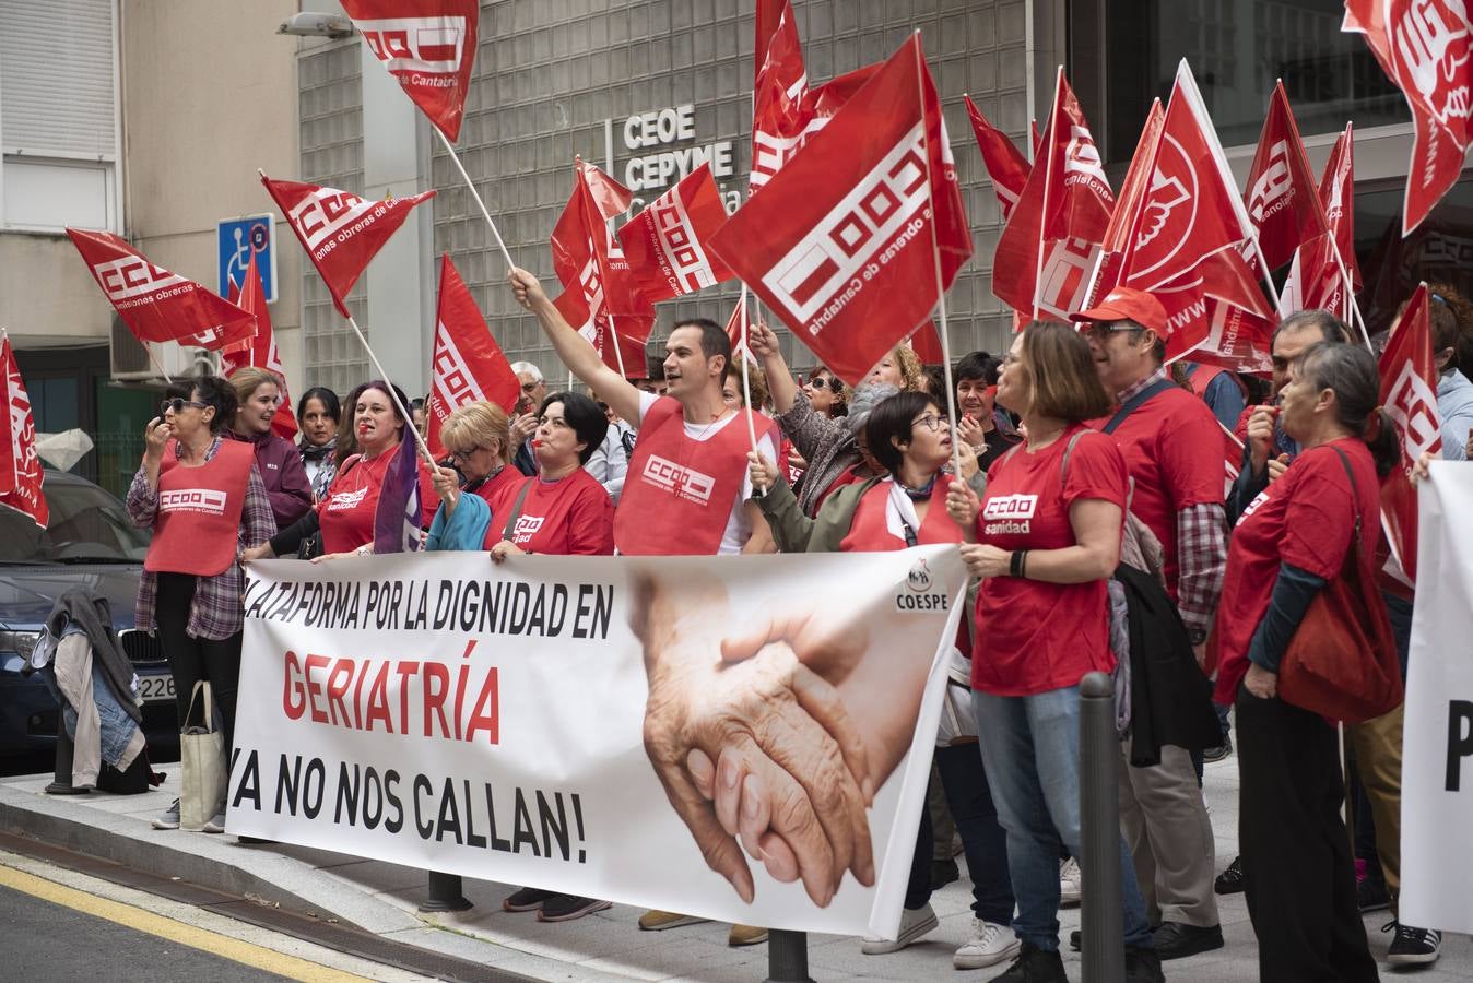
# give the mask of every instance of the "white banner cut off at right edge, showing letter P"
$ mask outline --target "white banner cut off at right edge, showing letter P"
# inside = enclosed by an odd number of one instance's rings
[[[1432,462],[1417,496],[1401,762],[1401,920],[1473,931],[1473,465]]]

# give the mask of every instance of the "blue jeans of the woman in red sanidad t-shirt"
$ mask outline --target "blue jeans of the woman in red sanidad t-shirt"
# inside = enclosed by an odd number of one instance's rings
[[[972,690],[977,733],[997,818],[1008,833],[1018,917],[1013,931],[1038,949],[1059,948],[1059,842],[1080,856],[1080,690],[1034,696]],[[1119,842],[1125,945],[1152,948],[1146,902]],[[1084,871],[1089,876],[1089,871]]]

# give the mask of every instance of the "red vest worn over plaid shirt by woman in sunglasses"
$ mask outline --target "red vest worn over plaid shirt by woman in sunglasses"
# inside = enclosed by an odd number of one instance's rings
[[[164,455],[159,511],[143,568],[196,577],[230,569],[255,462],[255,447],[236,440],[221,440],[215,456],[197,468],[180,465],[174,453]]]

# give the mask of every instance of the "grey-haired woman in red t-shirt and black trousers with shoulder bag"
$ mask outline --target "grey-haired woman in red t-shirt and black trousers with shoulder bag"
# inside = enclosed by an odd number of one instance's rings
[[[1340,574],[1357,519],[1361,577],[1373,580],[1380,478],[1399,459],[1379,391],[1376,361],[1360,346],[1321,343],[1299,355],[1279,396],[1299,456],[1243,509],[1227,550],[1217,699],[1237,712],[1239,839],[1265,980],[1377,979],[1339,812],[1335,727],[1277,693],[1279,662],[1309,603]]]

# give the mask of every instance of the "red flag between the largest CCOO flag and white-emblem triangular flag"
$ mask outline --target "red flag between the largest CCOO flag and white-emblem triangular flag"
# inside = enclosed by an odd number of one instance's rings
[[[1084,310],[1114,207],[1084,110],[1061,69],[1041,153],[997,240],[993,293],[1036,319],[1068,321]]]

